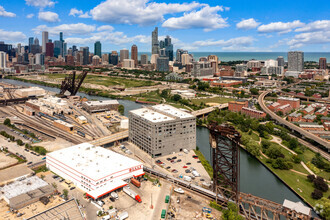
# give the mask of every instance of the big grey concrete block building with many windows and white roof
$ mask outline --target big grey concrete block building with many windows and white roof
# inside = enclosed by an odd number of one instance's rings
[[[129,140],[152,157],[196,148],[196,118],[170,105],[129,112]]]

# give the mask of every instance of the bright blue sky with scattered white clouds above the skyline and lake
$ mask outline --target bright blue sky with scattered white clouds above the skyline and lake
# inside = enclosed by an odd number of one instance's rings
[[[0,41],[64,32],[68,46],[150,51],[151,31],[189,51],[330,51],[328,0],[1,0]]]

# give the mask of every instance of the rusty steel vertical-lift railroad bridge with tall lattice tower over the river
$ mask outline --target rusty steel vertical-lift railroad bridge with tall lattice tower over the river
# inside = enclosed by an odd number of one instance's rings
[[[216,202],[226,206],[238,205],[246,219],[317,219],[288,209],[281,204],[239,191],[239,144],[241,135],[234,127],[217,123],[209,125],[213,162],[213,190]],[[220,200],[219,197],[222,199]]]

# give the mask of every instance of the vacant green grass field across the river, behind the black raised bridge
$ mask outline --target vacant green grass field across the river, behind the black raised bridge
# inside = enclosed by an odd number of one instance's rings
[[[45,76],[50,79],[64,79],[66,74],[47,74]],[[86,79],[84,80],[84,83],[91,83],[103,86],[124,86],[125,88],[153,86],[159,84],[149,80],[145,81],[136,79],[125,79],[120,77],[109,77],[103,75],[87,75]]]

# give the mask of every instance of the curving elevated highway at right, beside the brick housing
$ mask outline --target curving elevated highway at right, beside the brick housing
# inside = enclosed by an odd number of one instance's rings
[[[287,126],[288,128],[300,133],[302,136],[307,137],[311,140],[314,140],[318,144],[324,146],[326,149],[328,149],[328,152],[329,152],[329,150],[330,150],[329,142],[327,142],[326,140],[324,140],[314,134],[309,133],[308,131],[296,126],[295,124],[293,124],[291,122],[286,121],[285,119],[281,118],[280,116],[278,116],[274,112],[272,112],[264,103],[264,98],[269,92],[270,91],[263,92],[258,98],[258,102],[259,102],[259,105],[262,108],[262,110],[264,112],[268,113],[270,115],[270,117],[272,117],[274,120],[278,121],[280,124],[283,124],[283,125]],[[311,148],[310,145],[307,145],[307,147]],[[312,149],[312,148],[311,148],[311,150],[315,151],[315,149]],[[329,153],[324,152],[323,155],[324,154],[327,155],[326,158],[329,158]]]

